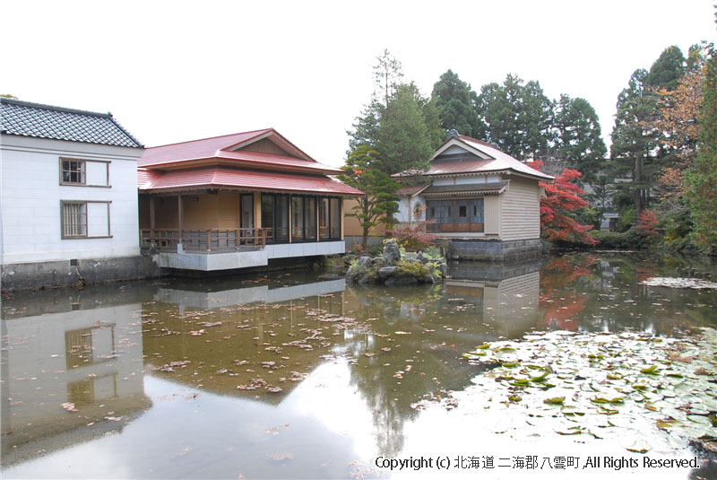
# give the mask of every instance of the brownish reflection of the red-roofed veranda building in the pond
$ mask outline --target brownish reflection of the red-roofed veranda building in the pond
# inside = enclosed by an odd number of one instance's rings
[[[325,330],[344,314],[345,281],[232,285],[160,287],[144,309],[148,367],[194,388],[281,403],[331,352]],[[184,364],[164,368],[177,361]]]

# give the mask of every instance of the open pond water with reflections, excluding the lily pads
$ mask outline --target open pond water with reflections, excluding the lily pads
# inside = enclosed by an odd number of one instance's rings
[[[497,427],[518,416],[483,411],[469,390],[488,366],[462,356],[536,331],[717,327],[717,291],[640,284],[711,268],[571,254],[455,264],[426,287],[289,272],[4,294],[2,476],[715,478],[704,450]]]

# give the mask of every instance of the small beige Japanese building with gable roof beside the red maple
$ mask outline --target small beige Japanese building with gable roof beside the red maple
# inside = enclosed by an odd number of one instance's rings
[[[540,252],[540,182],[553,177],[455,131],[421,174],[430,183],[400,190],[398,220],[429,221],[427,230],[451,257],[512,260]]]

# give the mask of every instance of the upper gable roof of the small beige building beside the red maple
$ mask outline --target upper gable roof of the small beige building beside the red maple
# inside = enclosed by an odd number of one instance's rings
[[[444,154],[457,146],[465,154]],[[518,161],[494,145],[466,135],[451,136],[436,149],[431,158],[428,171],[424,175],[457,175],[465,173],[489,173],[512,170],[515,173],[534,179],[552,180],[555,177],[532,169],[523,161]]]

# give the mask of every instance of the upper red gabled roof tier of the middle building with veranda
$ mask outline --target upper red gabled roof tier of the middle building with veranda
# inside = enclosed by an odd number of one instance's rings
[[[252,150],[251,145],[261,141],[270,142],[274,147],[273,152]],[[144,151],[137,164],[161,170],[222,164],[257,169],[341,173],[341,169],[315,161],[273,128],[151,147]]]

